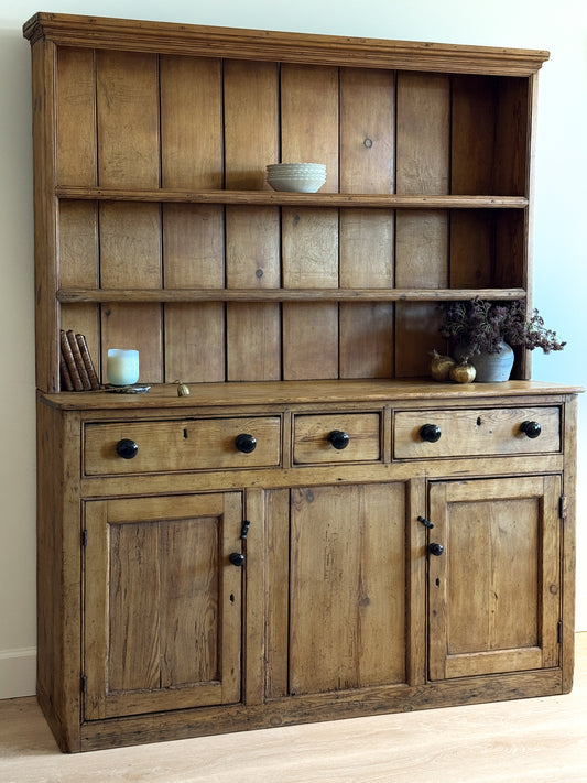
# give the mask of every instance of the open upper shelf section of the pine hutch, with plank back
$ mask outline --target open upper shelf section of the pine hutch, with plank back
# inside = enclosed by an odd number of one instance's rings
[[[54,13],[24,35],[42,390],[59,329],[99,366],[138,348],[152,383],[413,378],[443,301],[531,306],[546,52]],[[279,161],[327,182],[275,193]]]

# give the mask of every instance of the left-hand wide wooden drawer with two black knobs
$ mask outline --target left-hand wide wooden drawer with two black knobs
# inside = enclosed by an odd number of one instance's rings
[[[276,467],[281,464],[281,418],[237,417],[86,424],[86,476],[174,470]],[[250,452],[239,450],[251,447]],[[117,450],[128,441],[127,458]],[[242,443],[244,442],[244,443]],[[135,455],[132,444],[135,444]],[[121,445],[119,448],[124,452]]]

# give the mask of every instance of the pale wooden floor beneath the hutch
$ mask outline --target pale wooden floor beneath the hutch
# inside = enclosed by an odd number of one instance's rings
[[[568,696],[64,755],[33,697],[0,700],[2,783],[587,782],[587,633]]]

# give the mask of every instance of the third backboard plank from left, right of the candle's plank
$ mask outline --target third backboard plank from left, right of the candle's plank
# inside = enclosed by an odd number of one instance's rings
[[[222,86],[217,58],[162,56],[161,184],[175,188],[222,185]],[[221,289],[225,282],[220,205],[163,205],[164,286]],[[164,305],[164,380],[225,380],[221,303]]]

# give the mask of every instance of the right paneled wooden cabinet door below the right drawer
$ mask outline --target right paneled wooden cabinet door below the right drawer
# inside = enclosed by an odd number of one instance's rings
[[[430,489],[430,678],[558,665],[558,476]]]

